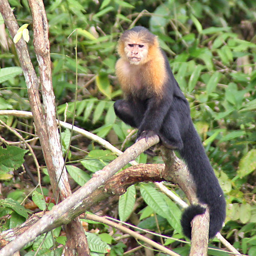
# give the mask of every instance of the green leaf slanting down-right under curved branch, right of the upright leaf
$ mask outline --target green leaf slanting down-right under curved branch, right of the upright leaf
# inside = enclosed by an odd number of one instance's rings
[[[148,184],[141,184],[141,195],[145,202],[154,210],[157,214],[165,217],[166,219],[169,217],[167,215],[169,208],[163,199],[163,195],[156,191],[153,187]]]

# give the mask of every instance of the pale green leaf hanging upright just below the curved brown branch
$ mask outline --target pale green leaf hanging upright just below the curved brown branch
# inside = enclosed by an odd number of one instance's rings
[[[135,203],[135,195],[135,186],[132,185],[119,197],[118,212],[120,221],[125,221],[132,213]]]

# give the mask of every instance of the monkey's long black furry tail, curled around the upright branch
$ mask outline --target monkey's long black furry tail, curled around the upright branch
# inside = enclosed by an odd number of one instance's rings
[[[226,217],[226,201],[219,182],[210,165],[193,123],[189,125],[189,133],[184,136],[184,147],[180,154],[187,164],[196,185],[198,201],[207,204],[210,210],[209,238],[221,230]],[[205,208],[191,205],[182,214],[181,225],[184,235],[191,238],[191,221],[195,215],[204,213]]]

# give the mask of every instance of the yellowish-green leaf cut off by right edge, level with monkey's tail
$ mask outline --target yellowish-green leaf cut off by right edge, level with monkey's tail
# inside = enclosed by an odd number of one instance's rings
[[[237,175],[241,178],[252,173],[255,169],[256,169],[256,148],[252,148],[239,161]]]

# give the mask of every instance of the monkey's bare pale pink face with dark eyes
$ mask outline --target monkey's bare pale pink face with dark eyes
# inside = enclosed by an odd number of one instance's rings
[[[140,65],[146,62],[148,45],[146,43],[126,42],[124,52],[131,64]]]

